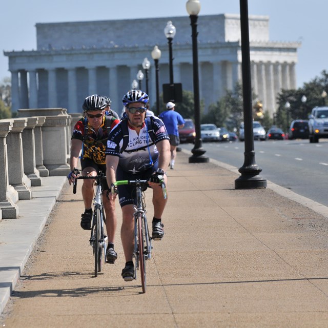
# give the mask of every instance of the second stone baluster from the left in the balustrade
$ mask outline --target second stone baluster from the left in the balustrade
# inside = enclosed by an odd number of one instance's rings
[[[15,118],[7,136],[8,180],[18,192],[19,199],[31,199],[31,180],[24,173],[22,132],[27,126],[27,118]]]

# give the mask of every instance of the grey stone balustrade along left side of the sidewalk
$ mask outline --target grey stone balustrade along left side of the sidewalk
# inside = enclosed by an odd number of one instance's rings
[[[43,177],[69,174],[71,131],[81,114],[72,116],[45,108],[0,119],[0,221],[18,218],[19,200],[33,198],[31,187],[42,186]]]

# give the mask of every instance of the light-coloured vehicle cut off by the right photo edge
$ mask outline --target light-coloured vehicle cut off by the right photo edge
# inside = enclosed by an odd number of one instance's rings
[[[309,116],[309,140],[319,142],[328,138],[328,107],[315,107]]]

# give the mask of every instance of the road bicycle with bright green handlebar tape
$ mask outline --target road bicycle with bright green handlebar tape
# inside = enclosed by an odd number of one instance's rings
[[[163,176],[158,176],[162,187],[163,197],[167,198],[166,186]],[[137,278],[137,270],[140,270],[142,293],[146,293],[146,260],[151,258],[152,237],[149,234],[147,223],[147,210],[144,191],[149,187],[148,180],[119,180],[111,185],[111,192],[114,194],[117,186],[132,185],[135,186],[136,203],[134,207],[134,276]]]

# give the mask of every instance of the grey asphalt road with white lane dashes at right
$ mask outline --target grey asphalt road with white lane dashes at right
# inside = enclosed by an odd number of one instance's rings
[[[191,150],[192,144],[181,144]],[[210,158],[240,168],[244,162],[244,142],[203,142]],[[328,206],[328,139],[318,144],[309,140],[254,141],[255,161],[261,176],[304,197]]]

